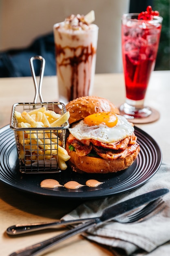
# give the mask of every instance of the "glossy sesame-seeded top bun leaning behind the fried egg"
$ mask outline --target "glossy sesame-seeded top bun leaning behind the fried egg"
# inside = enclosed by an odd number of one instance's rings
[[[104,111],[114,112],[119,115],[119,109],[108,99],[86,96],[79,97],[68,102],[66,110],[70,112],[69,124],[77,122],[85,117]]]

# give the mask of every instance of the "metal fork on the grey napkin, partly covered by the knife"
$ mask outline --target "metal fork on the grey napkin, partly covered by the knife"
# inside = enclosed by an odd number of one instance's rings
[[[145,207],[143,207],[138,211],[132,212],[131,214],[128,214],[128,213],[122,214],[121,216],[114,218],[113,220],[120,223],[141,222],[145,218],[149,217],[150,213],[155,214],[155,211],[159,211],[163,206],[163,203],[164,201],[162,200],[162,198],[158,198],[148,203]],[[32,231],[48,229],[48,228],[56,227],[60,225],[73,225],[80,222],[94,220],[95,218],[85,218],[85,219],[78,219],[78,220],[60,220],[57,222],[42,222],[42,223],[14,225],[14,226],[8,227],[6,232],[9,235],[19,235],[19,234],[32,232]]]

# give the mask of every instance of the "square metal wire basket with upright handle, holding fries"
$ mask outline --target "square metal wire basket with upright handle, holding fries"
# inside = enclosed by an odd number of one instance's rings
[[[40,83],[37,85],[33,61],[41,61]],[[47,112],[54,111],[56,115],[63,116],[66,113],[64,103],[43,102],[41,95],[42,78],[44,74],[45,60],[42,56],[30,58],[31,71],[35,85],[35,98],[33,103],[15,103],[11,111],[10,128],[14,130],[17,154],[21,173],[55,173],[61,170],[59,151],[65,147],[66,129],[68,121],[57,127],[20,127],[15,111],[36,113],[37,109],[46,108]],[[37,103],[38,96],[40,103]],[[57,111],[56,111],[57,110]],[[26,125],[25,125],[26,126]]]

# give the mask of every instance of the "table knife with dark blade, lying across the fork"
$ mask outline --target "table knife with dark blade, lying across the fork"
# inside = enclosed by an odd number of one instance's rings
[[[165,195],[169,192],[169,189],[157,189],[142,195],[138,195],[135,198],[128,199],[124,202],[120,202],[111,207],[104,209],[102,215],[100,217],[93,218],[92,220],[83,223],[82,225],[78,225],[77,227],[68,230],[58,236],[54,236],[50,239],[39,242],[35,245],[31,245],[24,249],[20,249],[16,252],[13,252],[9,256],[37,256],[41,255],[45,251],[48,251],[53,245],[62,242],[66,238],[70,238],[76,234],[86,231],[92,227],[97,227],[102,225],[104,222],[108,222],[109,220],[113,220],[116,216],[131,211],[143,204],[148,202],[152,202],[157,198]]]

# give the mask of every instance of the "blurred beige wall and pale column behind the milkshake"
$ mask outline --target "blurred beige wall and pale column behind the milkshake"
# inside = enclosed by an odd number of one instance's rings
[[[1,0],[0,51],[28,47],[35,38],[52,32],[53,24],[71,13],[95,11],[99,26],[96,72],[122,72],[121,16],[129,0]]]

